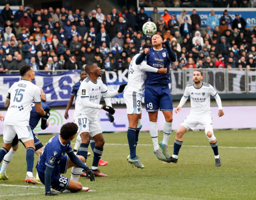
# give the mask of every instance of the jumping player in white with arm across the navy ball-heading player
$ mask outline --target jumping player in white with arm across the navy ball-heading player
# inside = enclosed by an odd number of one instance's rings
[[[142,51],[145,48],[151,48],[151,44],[144,44]],[[140,54],[136,54],[131,60],[128,71],[128,84],[123,94],[125,104],[127,107],[127,116],[129,121],[129,128],[127,131],[127,139],[130,149],[130,154],[127,157],[129,163],[134,164],[137,168],[144,168],[144,165],[139,162],[136,155],[136,146],[138,144],[139,131],[141,130],[141,98],[145,88],[146,72],[155,72],[166,74],[167,68],[153,68],[147,65],[146,61],[137,65],[135,60]]]

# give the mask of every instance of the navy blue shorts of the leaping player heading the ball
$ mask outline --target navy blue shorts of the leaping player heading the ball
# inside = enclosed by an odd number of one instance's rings
[[[172,96],[168,85],[145,85],[145,108],[147,112],[172,111]]]

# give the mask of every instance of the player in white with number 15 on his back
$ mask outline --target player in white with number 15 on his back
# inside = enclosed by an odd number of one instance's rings
[[[24,65],[20,68],[22,80],[15,82],[8,90],[8,107],[5,119],[3,140],[4,145],[0,149],[0,162],[8,153],[12,146],[12,140],[17,134],[27,149],[27,177],[26,182],[38,183],[33,176],[33,164],[35,145],[32,130],[29,126],[30,111],[32,102],[35,103],[36,112],[44,118],[49,118],[50,113],[45,112],[41,106],[41,91],[38,86],[32,83],[35,80],[35,72],[30,65]],[[6,175],[6,174],[5,174]],[[5,180],[4,178],[1,178]]]

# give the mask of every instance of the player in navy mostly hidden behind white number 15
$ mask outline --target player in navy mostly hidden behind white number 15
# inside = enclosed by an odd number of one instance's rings
[[[43,90],[41,89],[41,106],[43,108],[43,110],[48,111],[49,112],[49,106],[45,103],[46,102],[46,98],[45,98],[45,93],[43,92]],[[40,156],[42,150],[43,150],[43,144],[41,143],[41,141],[37,138],[37,136],[35,135],[35,133],[33,132],[33,129],[37,126],[39,120],[41,119],[41,128],[44,130],[45,128],[48,127],[49,122],[47,122],[47,118],[42,117],[41,115],[39,115],[36,110],[35,110],[35,104],[32,104],[32,110],[30,111],[30,118],[29,118],[29,126],[32,130],[32,134],[34,137],[34,145],[35,145],[35,154],[37,154],[37,156]],[[2,163],[2,168],[0,171],[0,180],[8,180],[8,176],[6,176],[6,169],[10,163],[10,161],[12,160],[12,156],[14,155],[14,153],[16,152],[16,150],[18,150],[18,136],[16,135],[15,138],[12,141],[12,148],[10,149],[10,151],[8,152],[8,154],[6,154],[4,156],[4,160]],[[22,142],[20,140],[20,142]],[[22,142],[23,143],[23,142]],[[24,145],[24,144],[23,144]],[[1,176],[2,175],[2,176]],[[1,178],[1,177],[5,177],[5,178]],[[31,183],[31,180],[29,178],[26,178],[25,180],[28,183]],[[41,184],[41,182],[39,182],[40,179],[38,178],[38,174],[36,175],[36,182],[37,184]]]

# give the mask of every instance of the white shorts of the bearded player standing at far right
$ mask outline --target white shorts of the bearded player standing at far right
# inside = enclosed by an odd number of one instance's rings
[[[184,126],[187,130],[194,130],[198,124],[201,124],[205,129],[205,134],[210,131],[213,133],[213,122],[211,115],[188,115],[180,126]]]

